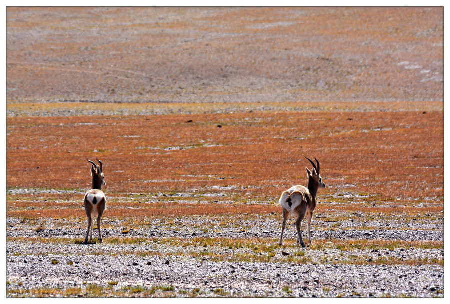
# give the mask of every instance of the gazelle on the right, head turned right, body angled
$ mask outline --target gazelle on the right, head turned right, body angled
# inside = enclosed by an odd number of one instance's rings
[[[304,246],[303,239],[301,237],[301,221],[306,215],[308,221],[308,239],[309,244],[311,243],[311,219],[312,212],[315,208],[315,196],[317,195],[317,190],[319,188],[325,188],[325,184],[322,182],[322,178],[320,177],[320,164],[315,158],[317,162],[317,166],[314,164],[312,160],[306,157],[313,166],[312,171],[306,167],[306,172],[308,173],[308,187],[304,186],[292,186],[281,194],[279,198],[279,203],[281,207],[283,207],[283,226],[281,228],[281,238],[279,240],[279,245],[282,245],[283,242],[283,233],[284,228],[286,226],[286,220],[289,218],[291,214],[297,216],[297,220],[295,221],[295,227],[297,228],[298,236],[297,236],[297,245],[298,241],[300,242],[302,247]]]

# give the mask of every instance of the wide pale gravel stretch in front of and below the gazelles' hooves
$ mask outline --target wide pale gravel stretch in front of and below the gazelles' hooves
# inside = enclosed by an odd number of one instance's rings
[[[261,262],[212,262],[189,256],[119,254],[145,251],[147,245],[7,244],[7,279],[17,288],[108,286],[173,286],[176,296],[199,288],[198,297],[382,297],[442,296],[443,267],[438,265],[351,265]],[[158,248],[160,250],[161,248]],[[296,250],[293,249],[292,250]],[[97,251],[117,253],[99,255]],[[276,255],[281,256],[281,250]],[[14,253],[20,252],[20,256]],[[59,254],[40,254],[59,252]],[[312,252],[312,251],[311,251]],[[417,251],[406,251],[406,255]],[[426,255],[443,255],[430,250]],[[59,261],[53,264],[52,261]],[[71,264],[71,265],[69,265]],[[20,282],[20,286],[19,283]],[[283,291],[288,286],[291,292]],[[13,293],[9,296],[14,296]],[[83,296],[83,294],[77,295]]]

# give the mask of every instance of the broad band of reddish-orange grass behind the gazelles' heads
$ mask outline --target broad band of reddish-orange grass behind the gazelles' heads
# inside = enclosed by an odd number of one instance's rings
[[[442,112],[7,118],[7,187],[88,190],[86,157],[98,157],[106,193],[232,192],[274,202],[306,184],[304,156],[320,160],[328,187],[319,196],[443,199]]]

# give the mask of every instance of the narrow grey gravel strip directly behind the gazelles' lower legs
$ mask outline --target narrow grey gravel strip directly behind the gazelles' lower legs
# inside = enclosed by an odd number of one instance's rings
[[[268,216],[267,216],[268,218]],[[53,220],[54,221],[54,220]],[[7,219],[7,236],[8,237],[80,237],[85,233],[86,228],[83,227],[68,227],[70,224],[63,227],[56,227],[51,224],[52,219],[45,221],[45,227],[35,227],[30,229],[26,223],[21,223],[17,218]],[[59,225],[63,225],[60,221]],[[143,238],[267,238],[279,237],[281,223],[270,219],[262,219],[258,221],[257,225],[251,220],[236,220],[231,221],[232,226],[238,227],[220,227],[213,226],[211,229],[204,229],[208,231],[199,230],[198,227],[209,227],[211,220],[205,217],[180,217],[178,219],[179,225],[167,227],[165,225],[153,224],[147,225],[145,229],[129,228],[126,221],[106,220],[103,219],[102,234],[105,237],[121,237],[122,230],[127,228],[129,232],[128,237],[143,237]],[[182,223],[182,224],[181,224]],[[317,223],[316,223],[317,224]],[[323,224],[323,223],[322,223]],[[87,225],[87,224],[86,224]],[[114,225],[117,228],[104,228],[105,225]],[[304,224],[303,224],[304,225]],[[324,224],[323,224],[324,225]],[[353,224],[355,226],[356,223]],[[341,226],[349,226],[341,225]],[[87,227],[87,226],[86,226]],[[244,227],[244,229],[242,229]],[[38,229],[37,229],[38,228]],[[327,227],[328,228],[328,227]],[[412,229],[411,229],[412,228]],[[311,236],[316,239],[363,239],[363,240],[403,240],[403,241],[439,241],[443,240],[443,223],[430,223],[428,227],[416,225],[410,229],[349,229],[346,227],[318,230],[314,229],[314,221],[312,221]],[[178,230],[179,229],[179,230]],[[305,229],[302,226],[302,229]],[[436,229],[436,230],[432,230]],[[103,232],[104,230],[104,232]],[[411,233],[413,231],[413,233]],[[307,236],[307,232],[302,232],[303,238]],[[295,237],[294,221],[288,221],[286,227],[286,236]]]

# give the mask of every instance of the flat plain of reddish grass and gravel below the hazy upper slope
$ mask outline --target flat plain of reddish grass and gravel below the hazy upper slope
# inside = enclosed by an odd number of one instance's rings
[[[442,119],[428,109],[7,118],[8,295],[441,296]],[[306,251],[292,220],[277,245],[277,199],[306,183],[303,155],[320,160],[327,184]],[[86,246],[85,157],[97,156],[104,243]],[[335,267],[357,272],[347,287]],[[404,286],[367,281],[367,267]]]

